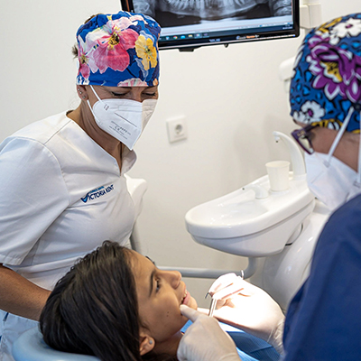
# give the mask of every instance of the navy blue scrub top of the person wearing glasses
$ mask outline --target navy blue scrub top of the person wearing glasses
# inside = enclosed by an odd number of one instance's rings
[[[310,277],[292,300],[285,361],[361,360],[361,196],[329,218]]]

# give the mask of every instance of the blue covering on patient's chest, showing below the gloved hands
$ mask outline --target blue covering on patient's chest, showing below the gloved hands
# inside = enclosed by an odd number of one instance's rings
[[[245,331],[236,329],[226,323],[219,322],[219,324],[235,341],[238,355],[242,361],[277,361],[280,359],[277,351],[263,339],[249,335]],[[190,325],[191,321],[188,321],[181,331],[185,332]]]

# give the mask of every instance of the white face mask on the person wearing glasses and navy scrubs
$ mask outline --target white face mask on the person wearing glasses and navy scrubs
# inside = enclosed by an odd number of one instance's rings
[[[361,194],[361,140],[358,149],[358,172],[333,156],[353,111],[354,108],[351,106],[345,122],[329,149],[329,154],[305,153],[310,191],[330,210],[335,210],[347,200]]]

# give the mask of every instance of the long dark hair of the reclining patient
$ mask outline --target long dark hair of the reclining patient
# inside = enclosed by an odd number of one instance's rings
[[[40,318],[45,342],[102,361],[171,360],[140,356],[138,302],[131,251],[106,241],[57,282]]]

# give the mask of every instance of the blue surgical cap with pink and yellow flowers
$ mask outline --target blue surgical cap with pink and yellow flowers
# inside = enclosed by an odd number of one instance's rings
[[[161,28],[151,17],[98,14],[77,32],[77,84],[153,87],[159,81],[157,41]]]

